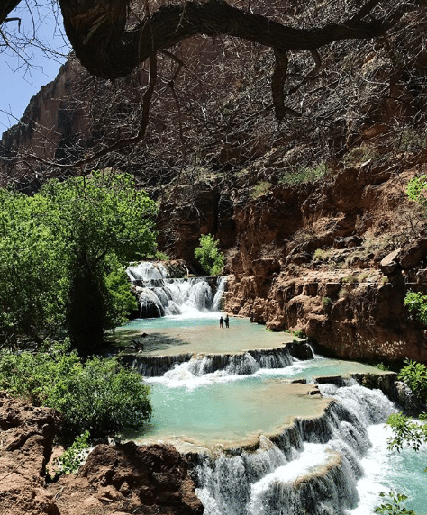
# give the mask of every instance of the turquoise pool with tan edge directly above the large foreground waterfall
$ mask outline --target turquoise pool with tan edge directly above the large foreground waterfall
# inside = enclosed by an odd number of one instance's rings
[[[154,414],[140,436],[173,436],[212,446],[275,432],[294,417],[311,416],[324,406],[323,400],[306,394],[305,385],[235,377],[150,379]]]

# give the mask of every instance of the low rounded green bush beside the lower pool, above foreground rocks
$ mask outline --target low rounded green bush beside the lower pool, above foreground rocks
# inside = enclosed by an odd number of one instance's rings
[[[68,344],[44,352],[0,353],[0,388],[48,406],[63,417],[64,433],[89,429],[92,436],[141,429],[150,420],[149,387],[116,357],[91,357],[83,364]]]

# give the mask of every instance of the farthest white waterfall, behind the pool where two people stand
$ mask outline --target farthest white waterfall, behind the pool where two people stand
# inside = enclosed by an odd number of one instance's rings
[[[184,312],[218,311],[226,277],[168,277],[161,263],[143,262],[128,267],[140,303],[141,318],[179,315]]]

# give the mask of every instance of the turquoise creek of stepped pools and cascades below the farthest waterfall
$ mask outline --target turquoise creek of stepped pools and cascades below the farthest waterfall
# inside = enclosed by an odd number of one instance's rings
[[[350,377],[379,371],[302,356],[304,342],[250,321],[220,329],[208,295],[191,315],[180,308],[117,330],[124,341],[145,334],[129,359],[152,390],[153,420],[127,437],[186,454],[205,515],[371,515],[393,488],[427,515],[427,448],[389,451],[385,422],[398,406]],[[341,386],[325,383],[337,375]]]

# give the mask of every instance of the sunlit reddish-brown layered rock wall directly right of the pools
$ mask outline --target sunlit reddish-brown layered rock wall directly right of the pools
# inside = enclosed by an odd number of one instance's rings
[[[408,290],[427,291],[426,223],[404,191],[416,170],[399,167],[344,168],[236,205],[225,309],[302,330],[335,356],[427,361],[427,333],[404,307]]]

